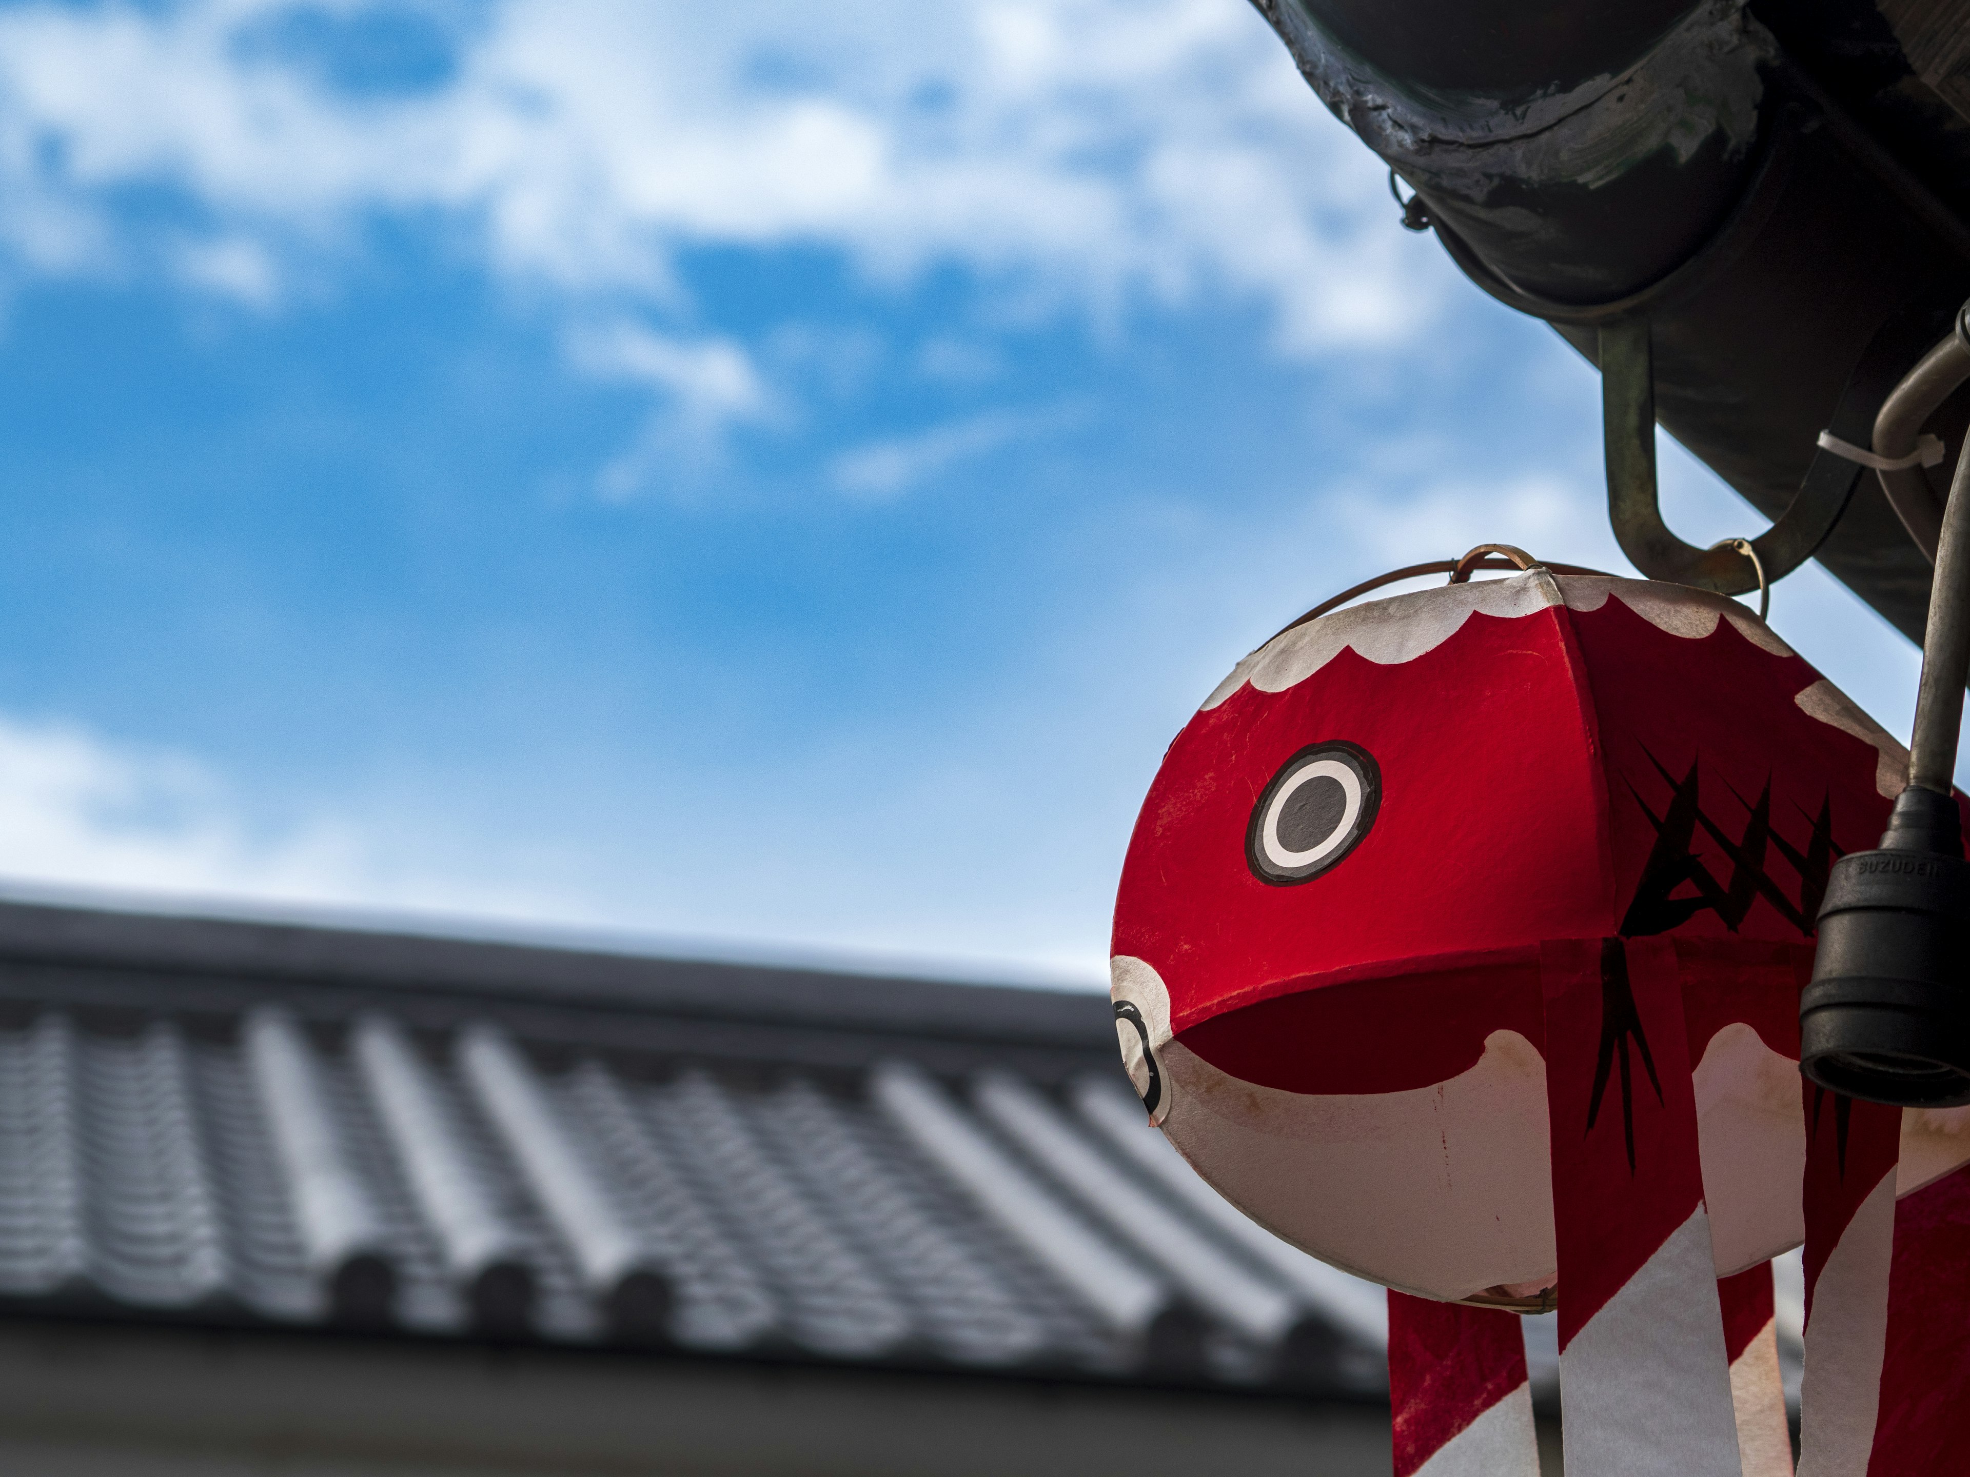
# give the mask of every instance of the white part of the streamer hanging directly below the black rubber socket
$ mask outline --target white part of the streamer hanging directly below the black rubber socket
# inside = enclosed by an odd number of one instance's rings
[[[1799,1477],[1866,1477],[1881,1410],[1895,1174],[1860,1203],[1812,1284],[1799,1388]]]

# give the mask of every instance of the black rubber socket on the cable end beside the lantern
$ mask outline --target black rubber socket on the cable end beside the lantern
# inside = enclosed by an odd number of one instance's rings
[[[1903,790],[1879,851],[1832,867],[1799,1069],[1895,1107],[1970,1103],[1970,863],[1952,796]]]

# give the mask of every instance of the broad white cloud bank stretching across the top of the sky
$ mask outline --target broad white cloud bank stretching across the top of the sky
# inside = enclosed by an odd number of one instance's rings
[[[0,14],[16,252],[142,258],[112,195],[164,185],[227,242],[205,280],[234,295],[238,242],[333,250],[437,213],[516,284],[646,305],[676,305],[693,244],[821,246],[877,280],[959,264],[1109,319],[1217,291],[1292,353],[1430,305],[1371,156],[1227,0],[512,0],[459,33],[449,81],[376,96],[238,43],[282,10]]]

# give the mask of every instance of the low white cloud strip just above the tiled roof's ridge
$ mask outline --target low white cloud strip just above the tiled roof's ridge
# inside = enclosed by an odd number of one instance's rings
[[[646,837],[601,855],[504,829],[433,847],[429,813],[388,813],[376,800],[361,819],[288,827],[254,823],[250,811],[185,754],[0,715],[0,896],[999,981],[1093,983],[1105,957],[1042,943],[1007,961],[1003,928],[973,918],[969,898],[955,910],[918,898],[871,922],[839,894],[814,906],[802,886],[762,914],[756,898],[719,882],[727,867],[666,867]],[[942,914],[922,906],[934,902]]]

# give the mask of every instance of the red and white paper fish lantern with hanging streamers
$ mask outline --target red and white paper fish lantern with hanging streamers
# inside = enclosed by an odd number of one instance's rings
[[[1740,1447],[1777,1469],[1769,1272],[1716,1278],[1806,1241],[1806,1434],[1866,1461],[1875,1412],[1828,1349],[1879,1371],[1893,1195],[1970,1160],[1970,1119],[1803,1087],[1799,989],[1828,868],[1903,780],[1714,595],[1533,569],[1308,620],[1210,695],[1143,805],[1125,1061],[1198,1172],[1316,1256],[1466,1310],[1556,1302],[1576,1477],[1749,1473]],[[1495,1394],[1501,1314],[1405,1302],[1399,1469],[1454,1440],[1523,1465],[1529,1408],[1448,1394]]]

